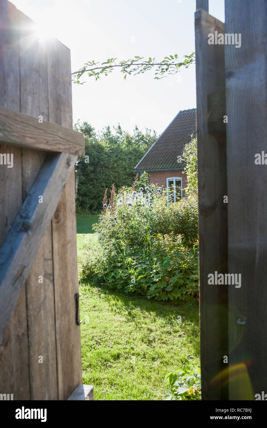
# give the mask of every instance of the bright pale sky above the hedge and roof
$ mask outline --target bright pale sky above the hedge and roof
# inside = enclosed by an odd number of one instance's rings
[[[135,55],[156,57],[195,51],[195,0],[13,0],[40,26],[71,50],[72,71],[89,60],[103,62]],[[224,0],[210,0],[209,13],[224,18]],[[181,82],[177,77],[180,76]],[[160,134],[179,110],[196,107],[195,65],[154,80],[153,71],[127,77],[114,71],[98,81],[72,85],[73,120],[97,130],[120,123]]]

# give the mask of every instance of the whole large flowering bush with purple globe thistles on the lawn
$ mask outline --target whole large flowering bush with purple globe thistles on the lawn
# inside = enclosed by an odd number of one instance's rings
[[[109,204],[104,198],[107,207],[93,226],[100,248],[84,263],[81,277],[94,276],[111,288],[156,300],[193,300],[198,293],[196,203],[170,203],[162,189],[142,187],[135,181],[117,195],[113,187]]]

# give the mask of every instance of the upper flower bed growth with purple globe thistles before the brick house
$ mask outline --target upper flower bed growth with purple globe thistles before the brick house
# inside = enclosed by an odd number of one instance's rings
[[[146,187],[139,186],[139,183],[140,180],[133,189],[123,187],[117,196],[114,189],[111,191],[112,197],[107,204],[110,208],[102,211],[99,223],[95,226],[99,240],[114,240],[120,249],[132,248],[134,245],[143,247],[151,235],[173,232],[174,235],[182,236],[186,247],[192,248],[198,240],[197,202],[182,199],[170,203],[166,191],[160,187],[148,184],[148,190],[145,190]],[[144,190],[140,191],[140,188]],[[133,192],[136,195],[132,196]]]

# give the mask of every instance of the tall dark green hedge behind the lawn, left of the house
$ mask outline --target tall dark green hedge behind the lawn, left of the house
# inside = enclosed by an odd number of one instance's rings
[[[155,131],[141,131],[137,126],[133,135],[120,125],[105,127],[95,132],[88,123],[79,121],[74,129],[84,133],[84,157],[76,163],[76,212],[78,214],[99,214],[102,208],[102,194],[115,182],[117,187],[132,183],[134,166],[156,141]]]

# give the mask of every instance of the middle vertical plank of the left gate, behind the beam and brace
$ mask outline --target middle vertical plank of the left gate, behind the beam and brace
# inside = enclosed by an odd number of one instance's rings
[[[36,37],[33,21],[21,13],[20,20],[21,112],[35,122],[39,116],[48,121],[47,49]],[[4,112],[6,114],[6,112]],[[13,116],[12,116],[13,117]],[[32,125],[22,134],[32,136]],[[10,125],[10,121],[8,122]],[[49,125],[49,124],[48,124]],[[53,125],[53,124],[52,124]],[[54,125],[53,125],[54,126]],[[38,136],[37,136],[38,137]],[[38,137],[39,138],[39,137]],[[23,198],[27,196],[46,153],[22,149]],[[50,200],[44,200],[50,204]],[[41,281],[41,282],[40,282]],[[57,400],[57,355],[54,320],[54,274],[51,222],[42,240],[26,281],[27,324],[30,364],[30,399]]]

